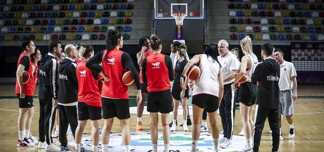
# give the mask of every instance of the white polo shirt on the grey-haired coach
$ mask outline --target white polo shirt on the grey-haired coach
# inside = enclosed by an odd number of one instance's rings
[[[240,61],[234,54],[228,51],[228,53],[222,57],[221,55],[217,56],[217,59],[222,67],[223,78],[231,74],[231,70],[237,70],[240,68]],[[224,81],[224,84],[229,84],[234,81],[234,78],[229,81]]]

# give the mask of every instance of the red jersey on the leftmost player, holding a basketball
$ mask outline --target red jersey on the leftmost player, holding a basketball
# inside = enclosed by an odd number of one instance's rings
[[[29,74],[29,80],[27,83],[23,84],[24,85],[24,90],[25,90],[25,94],[26,96],[33,96],[34,95],[34,85],[35,85],[35,80],[34,80],[34,76],[32,74],[32,67],[31,67],[31,60],[30,57],[28,56],[27,53],[22,52],[18,58],[18,64],[17,64],[17,68],[20,64],[20,61],[22,59],[22,57],[27,56],[29,59],[29,68],[27,70],[28,74]],[[16,94],[20,94],[20,87],[18,84],[18,80],[16,78]]]

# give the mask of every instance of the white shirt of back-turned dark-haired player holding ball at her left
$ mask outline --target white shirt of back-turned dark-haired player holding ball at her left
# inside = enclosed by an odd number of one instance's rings
[[[202,57],[199,63],[201,75],[193,86],[192,95],[209,94],[218,97],[219,64],[212,57],[209,56],[207,58],[206,54],[202,54],[201,56]]]

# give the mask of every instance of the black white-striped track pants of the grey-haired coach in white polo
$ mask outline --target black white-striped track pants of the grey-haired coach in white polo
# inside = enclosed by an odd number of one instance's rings
[[[224,96],[220,102],[219,115],[224,130],[224,138],[232,139],[234,131],[235,102],[231,83],[224,85]]]

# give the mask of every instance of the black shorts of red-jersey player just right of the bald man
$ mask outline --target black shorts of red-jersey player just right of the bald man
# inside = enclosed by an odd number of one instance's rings
[[[83,120],[100,120],[101,116],[100,106],[91,106],[84,102],[78,102],[78,119]]]

